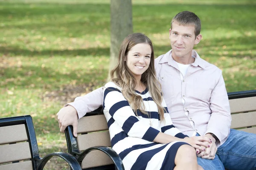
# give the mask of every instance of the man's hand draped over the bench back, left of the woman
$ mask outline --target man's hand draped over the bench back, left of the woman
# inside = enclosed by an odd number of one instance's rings
[[[73,135],[77,137],[78,114],[76,109],[68,105],[67,107],[61,108],[57,115],[60,131],[64,133],[66,127],[72,125]]]

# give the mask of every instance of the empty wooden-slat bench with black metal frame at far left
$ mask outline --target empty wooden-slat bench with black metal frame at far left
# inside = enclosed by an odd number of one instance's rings
[[[72,170],[81,170],[69,153],[50,153],[39,157],[35,130],[30,115],[0,118],[0,170],[43,170],[52,157],[63,158]]]

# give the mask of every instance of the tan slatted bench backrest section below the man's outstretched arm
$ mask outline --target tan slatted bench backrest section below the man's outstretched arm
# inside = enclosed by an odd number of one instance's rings
[[[86,150],[89,147],[111,147],[107,121],[101,108],[90,112],[88,115],[79,119],[77,138],[74,138],[72,135],[72,126],[69,126],[65,130],[68,152],[75,157],[76,153]],[[111,158],[99,150],[88,153],[82,161],[81,167],[83,169],[90,167],[101,167],[101,170],[114,169]]]

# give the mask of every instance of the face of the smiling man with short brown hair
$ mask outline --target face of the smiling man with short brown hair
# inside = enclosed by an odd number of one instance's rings
[[[201,35],[195,37],[195,26],[181,26],[178,23],[172,23],[172,29],[169,30],[169,38],[172,46],[172,57],[190,58],[195,44],[201,40]]]

